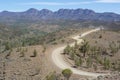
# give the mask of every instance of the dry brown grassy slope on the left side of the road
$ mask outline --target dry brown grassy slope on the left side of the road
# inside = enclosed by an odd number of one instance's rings
[[[87,31],[88,29],[70,30],[69,35],[76,35]],[[73,33],[71,33],[73,31]],[[61,35],[68,35],[68,32],[61,32]],[[50,72],[56,71],[61,73],[61,70],[53,63],[51,53],[53,49],[73,42],[64,37],[64,42],[61,39],[56,40],[56,45],[46,45],[46,51],[43,53],[43,46],[27,46],[13,49],[8,55],[9,51],[0,54],[0,79],[5,80],[40,80],[44,79]],[[36,57],[31,57],[34,50],[37,51]],[[7,57],[6,57],[7,55]],[[22,56],[21,56],[22,55]],[[4,74],[3,74],[4,73]],[[73,75],[73,78],[81,78],[81,76]]]

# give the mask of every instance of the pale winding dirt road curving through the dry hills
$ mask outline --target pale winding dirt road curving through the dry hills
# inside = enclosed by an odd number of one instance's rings
[[[84,36],[86,36],[86,35],[88,35],[90,33],[99,31],[100,29],[101,28],[96,28],[96,29],[84,32],[83,34],[77,35],[77,36],[72,37],[72,38],[75,39],[77,41],[77,43],[81,43],[83,41],[83,39],[80,39],[80,38],[82,38],[82,37],[84,37]],[[74,43],[71,43],[70,45],[73,46]],[[106,75],[106,74],[102,74],[102,73],[100,74],[100,73],[93,73],[93,72],[82,71],[82,70],[78,70],[76,68],[71,67],[70,64],[68,64],[67,62],[65,62],[65,60],[64,60],[64,58],[63,58],[63,56],[61,54],[66,46],[59,47],[59,48],[53,50],[53,52],[52,52],[52,61],[55,63],[55,65],[57,67],[59,67],[60,69],[69,68],[69,69],[72,70],[72,72],[74,74],[84,75],[84,76],[90,76],[90,77],[97,77],[97,76],[100,76],[100,75]]]

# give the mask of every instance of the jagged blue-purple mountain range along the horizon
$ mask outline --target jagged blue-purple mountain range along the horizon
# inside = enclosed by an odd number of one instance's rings
[[[97,13],[89,9],[59,9],[51,11],[48,9],[37,10],[30,8],[24,12],[0,12],[0,22],[33,22],[41,20],[87,20],[87,21],[120,21],[120,15],[116,13],[104,12]]]

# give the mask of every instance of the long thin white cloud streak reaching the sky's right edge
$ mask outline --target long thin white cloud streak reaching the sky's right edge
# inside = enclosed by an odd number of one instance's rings
[[[81,4],[93,4],[93,3],[120,3],[120,0],[92,0],[82,2],[28,2],[20,3],[22,5],[48,5],[48,6],[72,6]]]

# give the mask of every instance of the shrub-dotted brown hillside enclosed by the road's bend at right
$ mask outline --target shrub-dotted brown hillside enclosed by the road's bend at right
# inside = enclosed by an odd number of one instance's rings
[[[84,40],[82,44],[75,43],[74,47],[67,45],[63,54],[68,61],[73,61],[71,64],[74,67],[80,69],[95,72],[120,71],[120,59],[116,57],[120,56],[120,38],[117,37],[120,35],[111,32],[112,36],[116,36],[115,40],[108,33],[110,32],[104,32],[102,35],[101,32],[91,34],[94,38],[86,37],[90,41]]]

